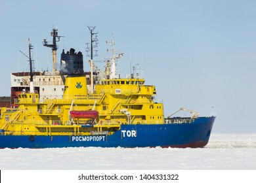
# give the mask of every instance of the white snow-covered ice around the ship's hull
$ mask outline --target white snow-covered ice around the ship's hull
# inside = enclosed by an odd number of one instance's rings
[[[256,134],[213,133],[205,148],[1,149],[1,170],[255,170]]]

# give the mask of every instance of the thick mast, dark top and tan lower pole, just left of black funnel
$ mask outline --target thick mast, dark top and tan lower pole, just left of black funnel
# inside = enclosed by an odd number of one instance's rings
[[[53,37],[53,44],[49,44],[47,39],[43,39],[43,46],[47,46],[52,48],[53,51],[53,72],[56,72],[56,51],[58,50],[58,46],[56,42],[60,41],[60,37],[63,36],[58,36],[58,29],[53,28],[53,31],[51,32],[51,37]]]

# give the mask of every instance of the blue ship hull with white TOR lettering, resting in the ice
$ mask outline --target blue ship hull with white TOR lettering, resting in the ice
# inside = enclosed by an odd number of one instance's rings
[[[121,125],[113,135],[32,136],[0,135],[0,148],[64,147],[178,147],[198,148],[209,141],[215,117],[200,117],[187,124]]]

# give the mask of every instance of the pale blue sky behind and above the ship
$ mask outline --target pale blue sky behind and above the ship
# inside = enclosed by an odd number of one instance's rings
[[[28,69],[28,38],[37,70],[51,70],[53,25],[59,35],[58,60],[64,48],[83,52],[87,25],[96,26],[98,57],[114,34],[130,61],[140,63],[146,84],[156,85],[165,116],[180,107],[209,116],[215,133],[256,133],[256,1],[7,1],[0,0],[0,95],[10,95],[10,73]],[[89,70],[84,57],[85,71]],[[102,63],[98,63],[103,67]]]

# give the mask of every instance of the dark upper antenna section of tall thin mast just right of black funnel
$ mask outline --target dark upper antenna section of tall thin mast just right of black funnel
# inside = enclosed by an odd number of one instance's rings
[[[97,52],[98,52],[98,50],[93,50],[93,48],[97,48],[98,47],[98,33],[94,33],[93,31],[95,30],[95,27],[89,27],[89,26],[87,26],[88,27],[88,29],[89,29],[89,31],[90,31],[90,33],[91,33],[91,42],[87,42],[86,44],[87,44],[87,50],[86,50],[86,52],[87,52],[87,57],[91,57],[91,59],[93,59],[93,57],[96,57],[96,56],[98,56],[97,55]],[[91,45],[89,46],[89,44],[91,43]]]

